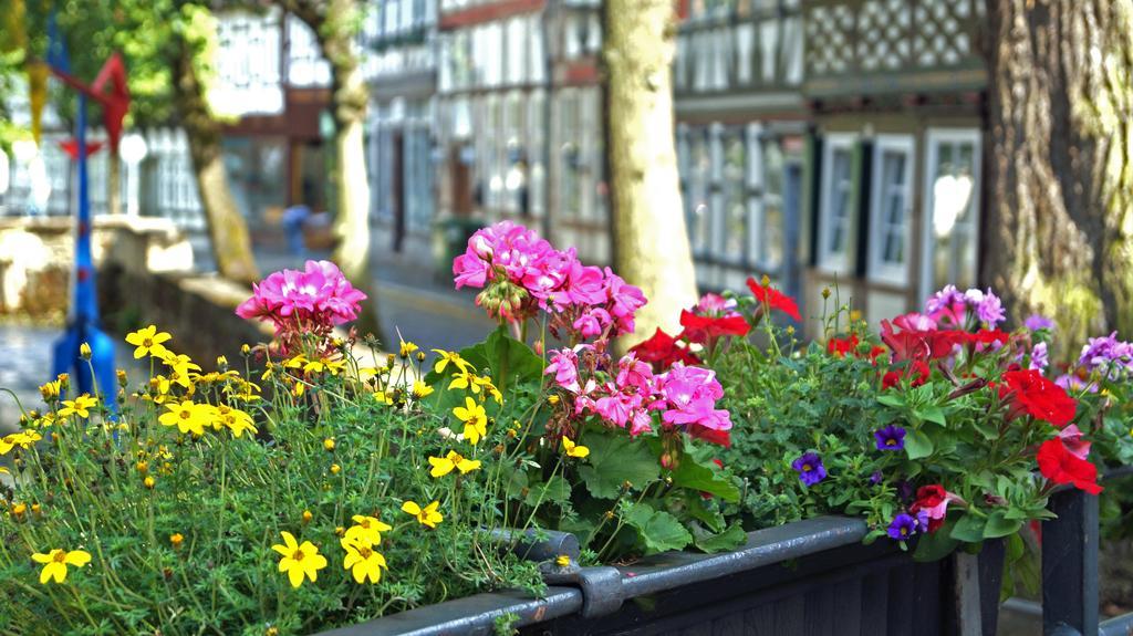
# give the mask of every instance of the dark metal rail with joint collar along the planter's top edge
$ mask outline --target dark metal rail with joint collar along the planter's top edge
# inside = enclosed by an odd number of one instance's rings
[[[551,586],[543,599],[519,591],[474,594],[317,636],[479,635],[492,634],[496,619],[509,614],[516,618],[513,627],[573,613],[600,616],[637,596],[860,543],[866,533],[861,519],[815,517],[749,532],[747,543],[731,552],[666,552],[627,567],[581,568],[581,588]]]

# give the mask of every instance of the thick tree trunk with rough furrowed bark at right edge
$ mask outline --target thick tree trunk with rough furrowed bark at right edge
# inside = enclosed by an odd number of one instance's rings
[[[1133,335],[1133,2],[987,8],[983,278],[1017,320],[1050,316],[1072,346]]]

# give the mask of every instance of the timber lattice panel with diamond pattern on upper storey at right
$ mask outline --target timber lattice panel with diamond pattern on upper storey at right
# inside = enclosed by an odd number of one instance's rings
[[[982,86],[981,0],[806,3],[807,93],[823,96]]]

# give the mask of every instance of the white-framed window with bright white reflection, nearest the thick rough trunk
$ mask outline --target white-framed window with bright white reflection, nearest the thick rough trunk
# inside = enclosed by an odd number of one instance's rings
[[[926,139],[921,295],[974,286],[979,272],[980,132],[929,129]]]

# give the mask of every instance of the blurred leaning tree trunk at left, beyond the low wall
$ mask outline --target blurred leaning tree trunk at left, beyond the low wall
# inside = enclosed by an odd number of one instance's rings
[[[228,187],[220,124],[208,110],[193,66],[193,52],[187,44],[182,43],[180,48],[173,77],[181,126],[189,140],[189,155],[193,157],[193,171],[197,178],[216,269],[225,278],[255,283],[259,280],[259,272],[252,252],[248,225]]]

